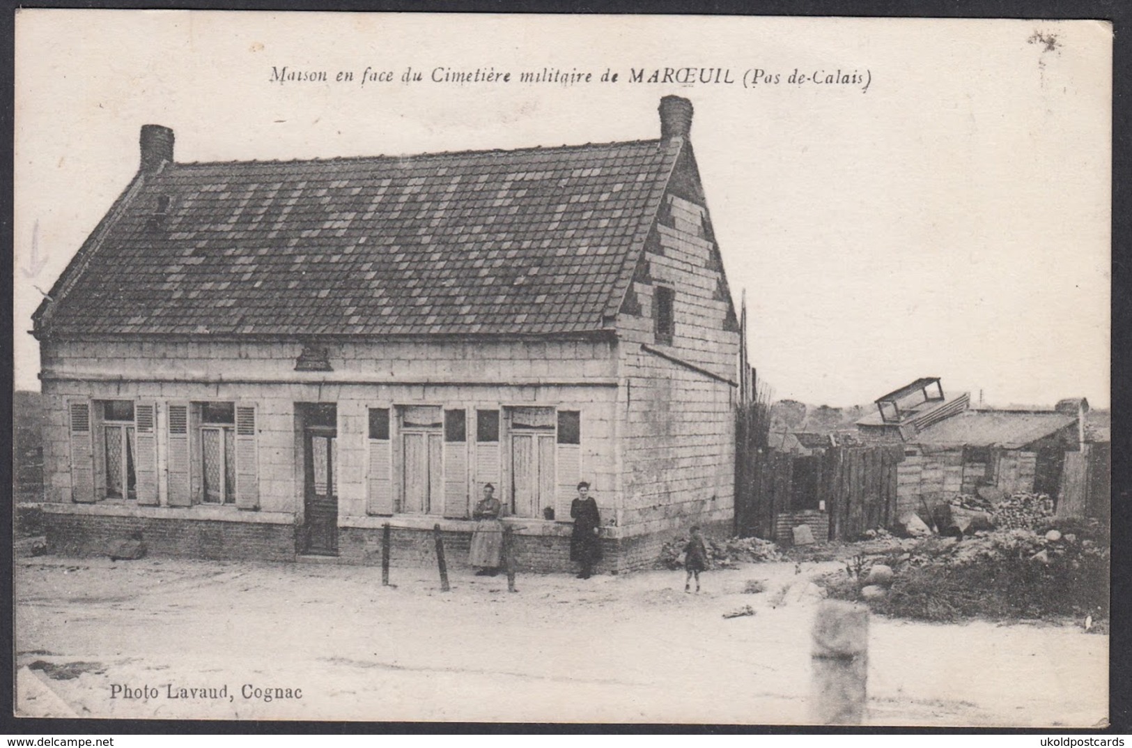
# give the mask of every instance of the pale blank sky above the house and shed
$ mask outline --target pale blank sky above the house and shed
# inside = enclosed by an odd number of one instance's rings
[[[592,78],[520,80],[544,68]],[[666,94],[695,107],[775,399],[940,376],[987,405],[1108,405],[1110,27],[964,19],[20,10],[16,388],[38,389],[31,315],[137,171],[142,125],[173,128],[177,161],[552,146],[659,137]]]

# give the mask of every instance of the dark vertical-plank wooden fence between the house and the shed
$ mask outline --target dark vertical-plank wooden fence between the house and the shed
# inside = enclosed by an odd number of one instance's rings
[[[837,447],[813,456],[744,447],[740,441],[736,454],[740,535],[773,538],[780,515],[808,516],[815,510],[829,516],[829,539],[856,538],[897,520],[901,445]]]

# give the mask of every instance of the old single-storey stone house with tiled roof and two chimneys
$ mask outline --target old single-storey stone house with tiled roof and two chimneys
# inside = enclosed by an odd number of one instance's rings
[[[490,483],[516,560],[606,566],[730,529],[738,324],[689,130],[659,139],[140,169],[34,316],[44,521],[93,551],[464,556]]]

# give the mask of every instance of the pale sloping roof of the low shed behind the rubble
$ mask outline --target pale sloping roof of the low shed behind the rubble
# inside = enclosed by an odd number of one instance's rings
[[[921,431],[916,441],[937,447],[1019,449],[1077,423],[1061,413],[967,410]]]

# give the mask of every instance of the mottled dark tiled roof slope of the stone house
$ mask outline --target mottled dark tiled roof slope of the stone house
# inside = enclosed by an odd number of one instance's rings
[[[602,330],[683,142],[169,163],[69,269],[48,332]]]

